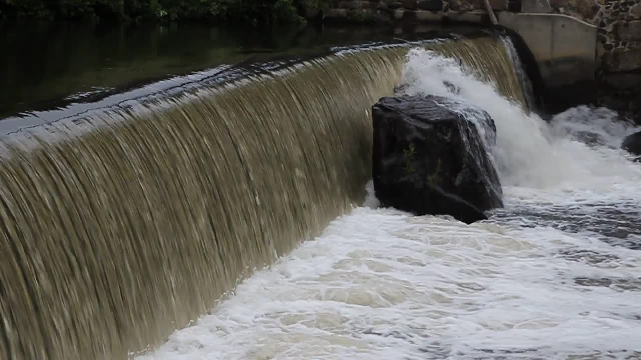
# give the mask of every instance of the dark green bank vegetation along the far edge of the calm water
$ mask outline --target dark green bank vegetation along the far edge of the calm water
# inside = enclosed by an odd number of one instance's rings
[[[0,0],[0,20],[296,24],[313,17],[328,3],[329,0]]]

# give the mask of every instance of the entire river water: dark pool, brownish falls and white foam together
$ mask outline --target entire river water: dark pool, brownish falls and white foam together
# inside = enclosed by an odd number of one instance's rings
[[[0,360],[641,359],[638,129],[528,111],[509,38],[273,35],[0,33]],[[495,120],[488,220],[379,208],[401,84]]]

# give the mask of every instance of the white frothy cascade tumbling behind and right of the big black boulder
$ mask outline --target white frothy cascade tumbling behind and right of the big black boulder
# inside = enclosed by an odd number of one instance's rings
[[[467,104],[487,111],[497,127],[497,158],[504,186],[527,186],[529,188],[563,187],[576,189],[577,186],[594,186],[594,176],[622,174],[634,176],[637,170],[622,162],[621,151],[601,151],[601,156],[588,149],[587,145],[567,136],[555,136],[558,131],[549,127],[535,114],[526,115],[519,104],[508,101],[497,94],[490,83],[483,83],[456,65],[456,60],[422,49],[410,52],[408,65],[403,74],[408,83],[406,93],[432,94],[454,97]],[[458,94],[450,92],[445,81],[460,88]],[[589,131],[604,133],[615,115],[607,110],[579,108],[560,114],[554,120],[559,129],[561,124],[592,124]],[[566,121],[566,119],[568,121]],[[583,119],[581,122],[580,119]],[[608,127],[609,126],[609,127]],[[618,126],[614,131],[616,140],[633,132],[633,129]],[[627,131],[626,131],[627,130]],[[588,129],[586,129],[588,131]],[[612,136],[608,137],[612,143]],[[612,161],[603,161],[603,157]],[[584,184],[587,180],[590,184]]]

